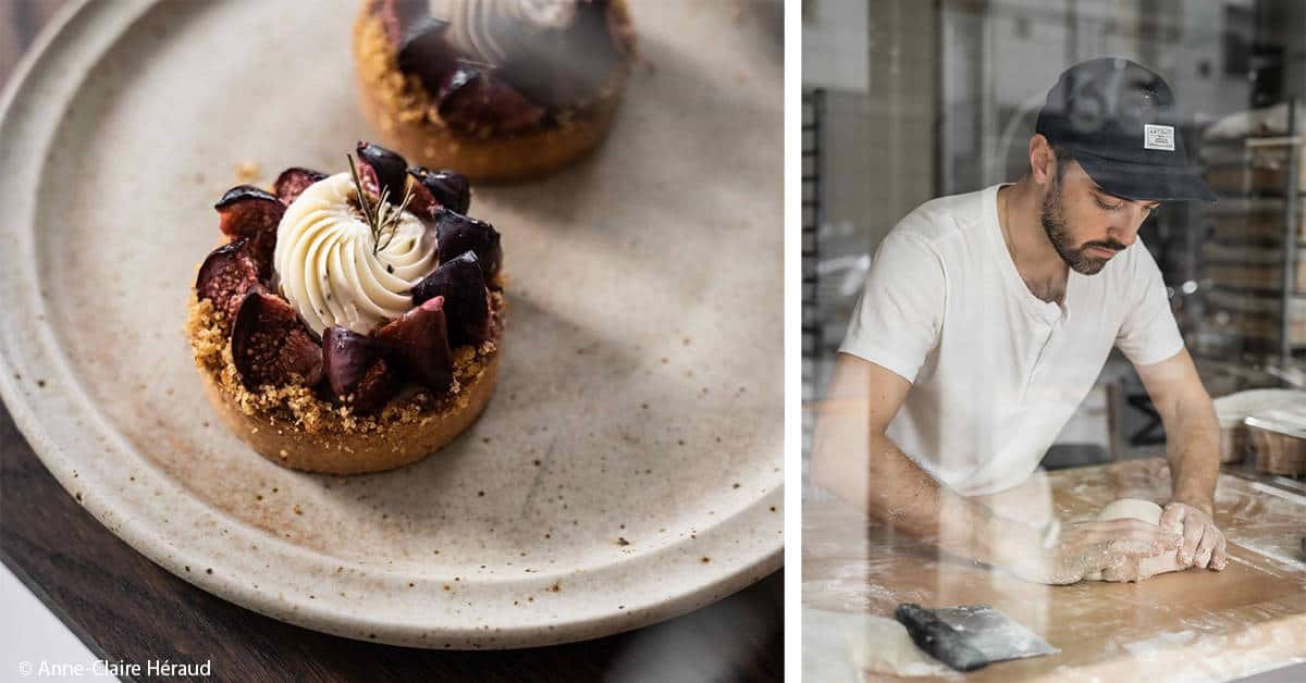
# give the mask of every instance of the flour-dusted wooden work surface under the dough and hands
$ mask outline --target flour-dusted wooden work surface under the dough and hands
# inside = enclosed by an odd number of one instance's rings
[[[1057,471],[1047,482],[1063,521],[1091,518],[1118,498],[1165,503],[1170,491],[1160,458]],[[1216,524],[1229,541],[1224,572],[1045,586],[940,556],[841,501],[810,501],[803,507],[803,607],[891,616],[901,602],[987,603],[1062,650],[947,676],[966,680],[1226,680],[1306,661],[1306,500],[1222,474]],[[806,645],[804,658],[848,657]]]

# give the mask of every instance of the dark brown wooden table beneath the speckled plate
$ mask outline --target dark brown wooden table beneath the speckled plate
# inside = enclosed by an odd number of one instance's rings
[[[0,84],[60,4],[0,1]],[[110,661],[212,661],[209,680],[235,682],[760,682],[784,675],[782,571],[692,614],[594,641],[513,652],[418,650],[285,624],[163,571],[55,482],[4,406],[0,490],[0,562],[91,653]]]

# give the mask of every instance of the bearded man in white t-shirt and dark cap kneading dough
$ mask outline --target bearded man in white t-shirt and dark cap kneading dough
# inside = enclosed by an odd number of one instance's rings
[[[1224,569],[1220,427],[1161,272],[1139,242],[1162,202],[1215,201],[1166,82],[1124,59],[1060,74],[1029,171],[929,201],[884,238],[840,347],[810,475],[900,532],[1047,584],[1147,579],[1149,558]],[[1028,524],[983,496],[1021,486],[1111,347],[1168,437],[1160,525]]]

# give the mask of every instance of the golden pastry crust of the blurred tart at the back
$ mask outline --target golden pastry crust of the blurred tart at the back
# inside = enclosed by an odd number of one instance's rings
[[[613,69],[609,84],[593,102],[562,112],[556,125],[511,136],[453,135],[440,120],[421,80],[398,69],[396,48],[372,3],[360,5],[354,22],[354,63],[363,115],[387,146],[414,163],[454,168],[474,182],[518,180],[579,159],[598,146],[613,125],[629,74],[629,57]],[[611,7],[628,33],[626,3],[615,0]]]

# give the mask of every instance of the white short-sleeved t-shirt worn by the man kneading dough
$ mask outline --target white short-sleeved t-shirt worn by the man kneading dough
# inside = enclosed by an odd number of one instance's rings
[[[899,222],[840,347],[912,383],[887,434],[963,495],[1025,481],[1111,346],[1135,366],[1183,349],[1141,242],[1096,276],[1071,270],[1063,304],[1034,296],[1002,238],[999,187],[929,201]]]

